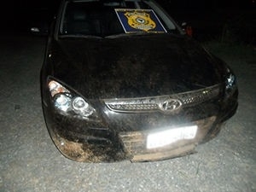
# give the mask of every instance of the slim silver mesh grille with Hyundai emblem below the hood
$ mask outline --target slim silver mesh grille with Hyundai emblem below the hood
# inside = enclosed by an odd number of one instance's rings
[[[160,111],[175,113],[181,108],[206,102],[219,95],[219,84],[201,90],[193,90],[170,96],[152,96],[125,99],[106,99],[107,107],[119,113],[146,113]]]

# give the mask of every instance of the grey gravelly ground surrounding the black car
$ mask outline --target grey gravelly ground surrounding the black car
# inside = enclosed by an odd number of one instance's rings
[[[256,49],[206,44],[235,71],[239,108],[197,154],[149,163],[78,163],[44,124],[39,70],[45,38],[0,38],[0,191],[256,191]]]

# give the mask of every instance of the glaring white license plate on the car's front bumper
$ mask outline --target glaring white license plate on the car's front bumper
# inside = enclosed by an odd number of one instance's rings
[[[148,134],[147,148],[160,148],[182,139],[195,138],[197,125],[183,126]]]

